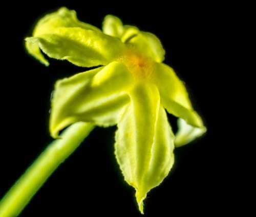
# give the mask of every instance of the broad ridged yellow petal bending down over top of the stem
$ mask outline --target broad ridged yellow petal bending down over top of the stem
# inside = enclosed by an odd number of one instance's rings
[[[75,122],[92,122],[100,126],[115,125],[124,105],[132,75],[119,62],[112,62],[62,79],[55,85],[50,116],[53,137]]]

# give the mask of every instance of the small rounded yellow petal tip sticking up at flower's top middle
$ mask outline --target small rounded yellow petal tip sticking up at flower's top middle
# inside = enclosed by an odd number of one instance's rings
[[[113,15],[106,15],[102,23],[103,33],[121,38],[123,34],[123,23],[122,21]]]

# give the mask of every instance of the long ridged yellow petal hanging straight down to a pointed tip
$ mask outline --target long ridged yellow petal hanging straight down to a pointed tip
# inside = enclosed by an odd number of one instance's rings
[[[130,98],[118,123],[115,154],[125,181],[136,189],[143,213],[147,192],[162,182],[173,165],[174,135],[154,85],[136,86]]]

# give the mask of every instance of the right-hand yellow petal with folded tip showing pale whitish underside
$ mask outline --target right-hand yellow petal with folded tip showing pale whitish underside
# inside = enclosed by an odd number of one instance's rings
[[[169,113],[183,119],[178,121],[179,131],[175,139],[176,147],[183,146],[205,133],[206,128],[191,106],[186,88],[174,70],[163,63],[157,63],[155,70],[154,79],[160,91],[161,103]]]

